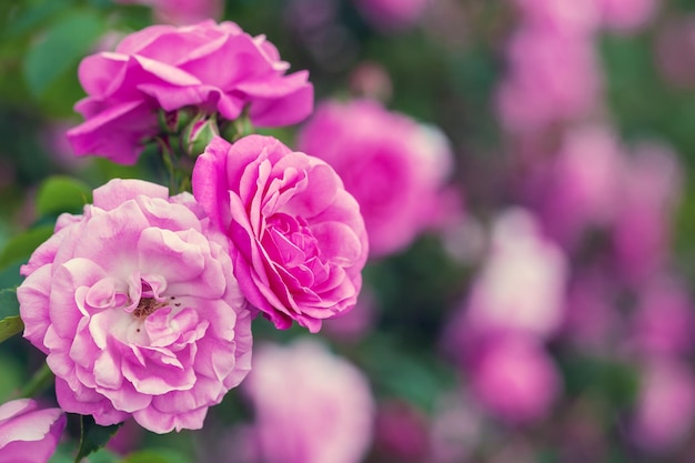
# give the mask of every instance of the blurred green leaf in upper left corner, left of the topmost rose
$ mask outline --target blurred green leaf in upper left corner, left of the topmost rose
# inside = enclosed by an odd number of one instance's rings
[[[29,50],[23,62],[29,91],[41,97],[46,90],[87,54],[103,31],[102,19],[89,11],[63,16]]]

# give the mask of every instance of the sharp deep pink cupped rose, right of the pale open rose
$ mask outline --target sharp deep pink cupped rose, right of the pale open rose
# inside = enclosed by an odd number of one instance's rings
[[[369,252],[360,208],[324,161],[272,137],[212,140],[193,194],[232,242],[246,299],[275,326],[311,332],[351,310]]]

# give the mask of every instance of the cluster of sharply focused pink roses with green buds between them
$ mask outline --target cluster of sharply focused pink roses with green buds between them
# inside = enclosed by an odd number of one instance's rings
[[[85,121],[68,132],[77,154],[132,164],[159,140],[192,193],[113,179],[81,214],[61,214],[21,266],[24,338],[47,355],[63,411],[100,425],[132,417],[155,433],[201,429],[251,370],[259,312],[279,329],[318,332],[355,305],[367,238],[333,168],[272,137],[215,137],[238,120],[309,115],[308,73],[288,68],[264,37],[211,20],[153,26],[82,61]],[[0,425],[31,412],[12,406]],[[42,413],[50,433],[18,440],[56,445],[64,417]],[[0,447],[19,445],[7,435]]]

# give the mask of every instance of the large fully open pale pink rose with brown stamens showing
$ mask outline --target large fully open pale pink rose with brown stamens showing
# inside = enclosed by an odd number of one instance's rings
[[[24,338],[48,354],[60,406],[157,433],[200,429],[250,370],[251,316],[226,239],[189,193],[140,180],[63,214],[18,288]]]

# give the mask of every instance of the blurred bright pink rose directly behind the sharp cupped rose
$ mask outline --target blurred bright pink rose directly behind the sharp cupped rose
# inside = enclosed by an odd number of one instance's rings
[[[440,221],[453,154],[437,129],[375,101],[328,101],[298,145],[331,164],[360,203],[371,256],[402,251]]]

